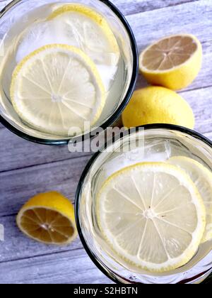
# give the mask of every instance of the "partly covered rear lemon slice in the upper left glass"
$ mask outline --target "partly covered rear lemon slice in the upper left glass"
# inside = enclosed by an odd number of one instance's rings
[[[47,21],[54,22],[57,28],[63,24],[61,31],[68,44],[81,48],[95,62],[109,91],[117,73],[120,51],[105,17],[88,6],[67,4],[55,9]]]

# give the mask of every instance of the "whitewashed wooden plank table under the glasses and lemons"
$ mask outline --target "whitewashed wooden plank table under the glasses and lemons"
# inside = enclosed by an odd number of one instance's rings
[[[29,0],[30,1],[30,0]],[[3,8],[9,1],[0,1]],[[194,33],[204,48],[204,63],[195,82],[182,92],[196,116],[196,131],[212,138],[212,0],[113,0],[133,29],[139,51],[171,33]],[[138,86],[146,84],[139,77]],[[33,195],[55,189],[74,198],[90,154],[36,145],[0,124],[1,283],[110,283],[76,240],[68,247],[46,246],[25,238],[16,214]]]

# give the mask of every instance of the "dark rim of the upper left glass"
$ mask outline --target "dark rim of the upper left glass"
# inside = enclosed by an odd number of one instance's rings
[[[18,4],[18,2],[20,2],[20,1],[22,1],[22,0],[13,0],[7,6],[5,6],[4,9],[2,9],[0,11],[0,18],[2,16],[4,16],[4,14],[7,11],[9,11],[13,6]],[[129,35],[129,41],[131,44],[131,53],[132,53],[132,57],[133,57],[131,81],[130,81],[129,87],[127,89],[126,95],[124,96],[124,99],[122,100],[122,103],[119,105],[117,110],[104,123],[102,123],[100,126],[98,126],[98,128],[102,128],[105,130],[105,128],[112,125],[112,123],[114,123],[114,121],[116,121],[117,118],[119,118],[119,116],[122,114],[122,111],[124,111],[127,104],[129,103],[129,100],[131,99],[131,96],[132,96],[134,89],[136,87],[136,80],[138,77],[139,52],[138,52],[138,48],[137,48],[136,38],[135,38],[134,33],[131,29],[131,26],[129,25],[128,21],[126,21],[126,18],[121,13],[121,11],[119,11],[119,9],[117,9],[117,7],[114,4],[112,4],[112,2],[110,2],[109,0],[97,0],[97,1],[100,1],[103,4],[105,4],[106,6],[108,6],[109,9],[111,9],[111,11],[122,22],[122,25],[126,29],[126,33]],[[25,140],[30,140],[33,143],[40,143],[43,145],[67,145],[69,143],[69,141],[71,140],[71,138],[66,138],[66,139],[61,138],[59,140],[50,140],[50,139],[37,138],[35,136],[30,136],[28,133],[24,133],[23,131],[20,131],[18,128],[16,128],[11,123],[9,123],[2,115],[0,115],[0,123],[2,123],[6,128],[8,128],[8,130],[11,131],[12,133],[15,133],[17,136],[20,136],[21,138],[24,138]],[[93,130],[94,134],[96,131],[98,131],[98,128],[95,128]],[[84,140],[84,139],[88,138],[89,135],[90,135],[90,131],[88,133],[83,134],[83,136],[81,136],[80,138]],[[77,140],[77,137],[74,139]]]

